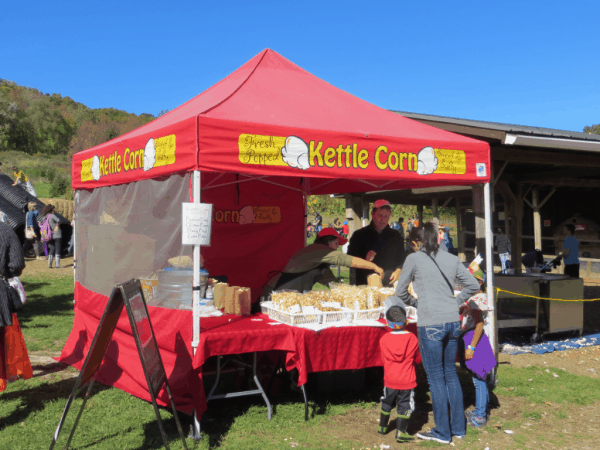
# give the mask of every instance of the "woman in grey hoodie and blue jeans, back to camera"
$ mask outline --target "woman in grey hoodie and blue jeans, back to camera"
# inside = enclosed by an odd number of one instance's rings
[[[438,251],[432,223],[411,230],[409,240],[416,251],[404,262],[396,295],[418,310],[419,350],[429,381],[435,421],[435,428],[417,436],[449,444],[452,436],[462,438],[466,433],[463,394],[456,373],[458,307],[479,290],[479,283],[456,256]],[[418,300],[408,292],[411,281]],[[455,281],[464,285],[456,297]]]

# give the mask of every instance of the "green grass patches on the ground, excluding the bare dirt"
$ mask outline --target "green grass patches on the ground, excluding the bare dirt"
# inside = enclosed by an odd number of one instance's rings
[[[72,272],[56,271],[51,275],[39,276],[25,274],[22,280],[28,301],[19,318],[28,349],[58,354],[72,326]],[[488,426],[485,430],[469,428],[464,442],[466,448],[482,448],[479,439],[482,442],[489,440],[490,448],[494,448],[494,436],[506,429],[515,431],[514,448],[530,448],[535,445],[534,440],[539,442],[541,436],[536,433],[523,434],[519,430],[526,422],[531,422],[531,418],[536,421],[550,419],[559,430],[561,421],[569,417],[567,412],[571,409],[570,405],[600,401],[600,380],[556,369],[547,373],[544,368],[537,367],[517,369],[502,365],[498,371],[500,383],[492,399],[496,396],[518,396],[533,405],[523,410],[516,419],[502,420],[500,413],[493,418],[494,426]],[[552,372],[559,377],[554,377]],[[459,376],[467,398],[465,405],[469,405],[474,398],[473,383],[465,372],[460,371]],[[74,378],[64,380],[56,373],[46,379],[34,377],[9,384],[7,390],[0,394],[0,449],[47,449],[74,382]],[[199,442],[188,439],[187,446],[189,449],[270,450],[291,448],[290,443],[296,442],[298,448],[360,448],[361,442],[344,439],[344,436],[337,434],[336,438],[327,430],[330,424],[343,418],[352,409],[376,408],[379,388],[367,385],[357,392],[313,396],[310,401],[311,419],[308,422],[304,421],[304,404],[300,394],[270,398],[274,412],[270,421],[267,419],[267,408],[258,396],[217,400],[210,403],[202,417],[203,439]],[[424,394],[425,389],[421,390],[423,392],[420,394]],[[428,401],[427,396],[422,396],[418,401]],[[543,414],[543,403],[547,401],[562,403],[562,409],[549,416]],[[77,399],[56,448],[64,447],[80,405],[81,400]],[[183,448],[170,409],[160,408],[160,414],[170,447]],[[180,413],[179,418],[187,436],[190,417]],[[377,439],[377,436],[374,432],[365,436],[365,439],[369,442],[370,439]],[[564,436],[559,432],[545,439],[555,445],[565,443]],[[586,435],[581,439],[589,440],[592,437]],[[441,446],[433,442],[415,445],[424,448]],[[163,444],[150,403],[118,389],[97,384],[83,412],[71,448],[152,450],[163,448]]]

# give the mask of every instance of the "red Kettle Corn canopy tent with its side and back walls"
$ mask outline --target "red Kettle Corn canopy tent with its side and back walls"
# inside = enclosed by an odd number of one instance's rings
[[[489,169],[487,143],[374,106],[264,50],[173,111],[74,156],[75,323],[61,360],[81,366],[114,283],[180,254],[192,171],[214,205],[207,267],[255,300],[304,245],[307,195],[488,183]],[[150,310],[154,328],[169,330],[157,339],[178,408],[189,410],[191,317],[172,329],[172,315]],[[122,317],[98,378],[148,399],[127,329]]]

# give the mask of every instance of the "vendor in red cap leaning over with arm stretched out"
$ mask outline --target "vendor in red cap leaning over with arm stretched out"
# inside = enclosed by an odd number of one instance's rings
[[[313,244],[294,253],[283,271],[267,282],[263,287],[261,301],[268,300],[273,291],[289,289],[306,292],[312,290],[316,283],[338,281],[329,268],[332,265],[375,271],[380,276],[383,274],[383,269],[375,263],[337,251],[346,242],[348,240],[333,228],[323,228]]]

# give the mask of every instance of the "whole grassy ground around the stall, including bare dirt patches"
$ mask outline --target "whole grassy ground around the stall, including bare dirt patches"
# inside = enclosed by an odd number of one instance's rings
[[[34,368],[34,378],[8,385],[0,394],[0,449],[47,449],[77,371],[48,360],[58,356],[73,320],[72,271],[25,274],[28,293],[20,322]],[[562,352],[566,353],[566,352]],[[43,359],[46,358],[46,359]],[[541,363],[541,360],[540,360]],[[465,449],[595,448],[600,417],[600,379],[578,376],[564,368],[531,365],[499,366],[500,383],[491,396],[494,407],[488,427],[468,429]],[[460,372],[466,405],[474,400],[473,385]],[[309,380],[310,381],[310,380]],[[440,444],[417,442],[398,446],[393,431],[376,433],[380,381],[370,380],[357,390],[313,395],[304,421],[304,404],[295,392],[271,396],[272,420],[260,397],[213,401],[202,417],[201,441],[187,439],[190,449],[427,448]],[[412,432],[432,426],[426,383],[416,393]],[[77,399],[56,448],[63,448],[81,400]],[[183,446],[170,409],[161,408],[171,449]],[[190,418],[179,414],[184,432]],[[587,425],[586,425],[587,423]],[[564,431],[563,431],[564,430]],[[411,428],[409,428],[411,431]],[[512,431],[513,434],[508,434]],[[72,449],[147,450],[163,448],[150,403],[118,389],[96,384],[88,401]]]

